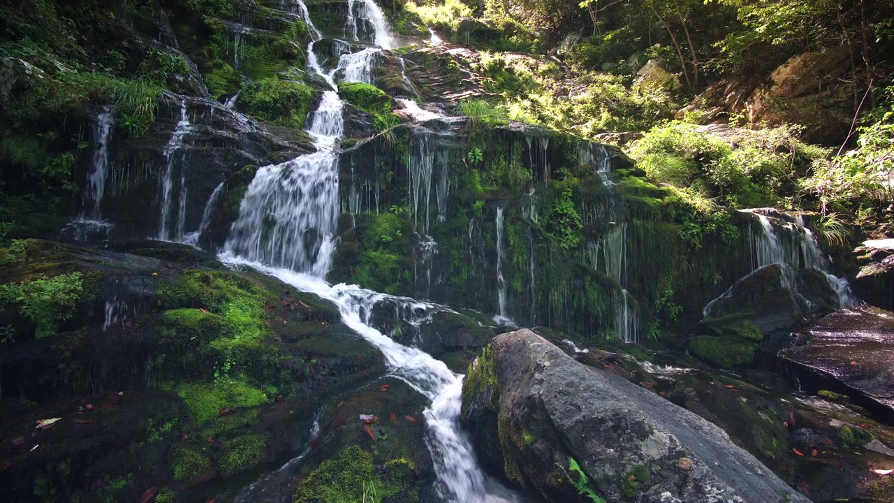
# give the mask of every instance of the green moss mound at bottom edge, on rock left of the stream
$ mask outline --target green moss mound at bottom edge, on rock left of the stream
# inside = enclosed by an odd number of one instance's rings
[[[295,503],[356,503],[374,479],[373,457],[357,446],[345,448],[299,482]]]

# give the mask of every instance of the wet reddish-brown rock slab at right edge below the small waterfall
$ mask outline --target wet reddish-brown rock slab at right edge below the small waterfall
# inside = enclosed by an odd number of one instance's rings
[[[894,313],[873,307],[836,311],[801,337],[799,345],[780,352],[789,367],[894,417]]]

